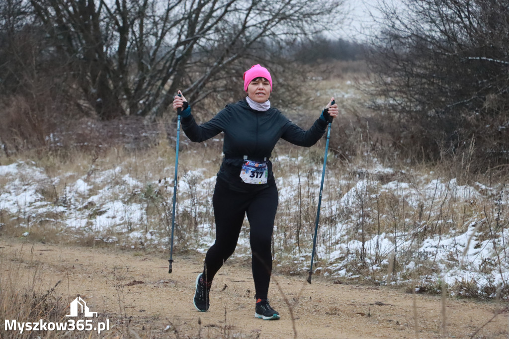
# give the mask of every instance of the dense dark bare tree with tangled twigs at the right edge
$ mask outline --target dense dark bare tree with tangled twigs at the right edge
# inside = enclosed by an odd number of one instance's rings
[[[400,3],[379,1],[368,57],[372,94],[384,99],[375,107],[404,126],[406,147],[454,153],[473,138],[479,155],[506,161],[509,1]]]

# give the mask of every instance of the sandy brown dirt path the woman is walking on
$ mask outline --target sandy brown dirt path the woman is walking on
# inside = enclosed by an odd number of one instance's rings
[[[0,255],[4,274],[23,273],[20,284],[36,277],[41,289],[48,290],[62,280],[58,295],[72,300],[79,294],[93,312],[132,317],[130,329],[142,337],[469,338],[499,309],[494,302],[448,298],[444,336],[439,297],[334,284],[317,276],[312,285],[307,276],[274,276],[269,297],[281,320],[263,321],[254,318],[250,268],[236,260],[216,276],[209,312],[199,313],[191,298],[203,256],[174,256],[173,273],[168,274],[167,258],[154,253],[0,239]],[[164,330],[168,325],[172,327]],[[505,312],[474,337],[507,338],[508,333]]]

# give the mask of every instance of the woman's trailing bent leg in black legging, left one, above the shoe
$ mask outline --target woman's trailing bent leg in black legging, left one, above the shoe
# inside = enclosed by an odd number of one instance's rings
[[[228,184],[217,181],[212,196],[216,240],[205,256],[204,280],[209,284],[223,263],[233,254],[244,221],[246,195],[228,188]]]

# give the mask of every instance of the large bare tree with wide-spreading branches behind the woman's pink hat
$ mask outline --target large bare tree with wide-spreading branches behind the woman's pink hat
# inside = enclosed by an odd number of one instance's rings
[[[232,69],[264,57],[261,46],[337,24],[344,0],[30,3],[55,53],[67,56],[80,89],[107,120],[161,115],[177,88],[193,102],[221,91]]]

